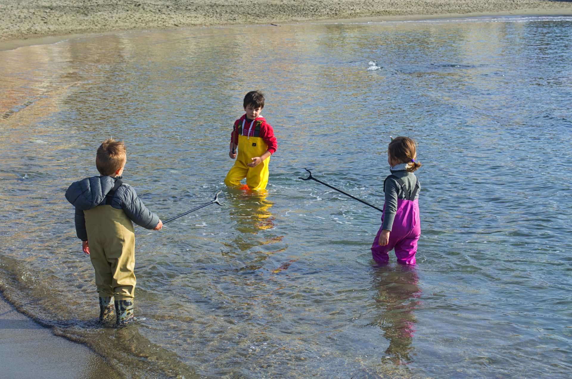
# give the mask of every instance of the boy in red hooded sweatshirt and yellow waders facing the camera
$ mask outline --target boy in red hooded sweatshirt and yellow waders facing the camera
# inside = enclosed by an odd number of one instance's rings
[[[236,158],[236,162],[228,171],[224,183],[229,187],[239,186],[240,181],[247,178],[250,189],[265,189],[270,155],[276,151],[277,143],[272,126],[260,116],[264,108],[264,95],[260,91],[250,91],[244,97],[243,106],[246,113],[235,121],[228,153],[232,159]]]

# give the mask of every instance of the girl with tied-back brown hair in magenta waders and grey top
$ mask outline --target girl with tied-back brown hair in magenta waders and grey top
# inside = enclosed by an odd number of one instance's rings
[[[382,226],[379,228],[371,254],[380,264],[389,261],[388,252],[395,249],[400,264],[415,265],[419,225],[419,181],[413,174],[421,167],[416,161],[415,141],[407,137],[392,138],[387,149],[391,175],[383,181],[385,202]]]

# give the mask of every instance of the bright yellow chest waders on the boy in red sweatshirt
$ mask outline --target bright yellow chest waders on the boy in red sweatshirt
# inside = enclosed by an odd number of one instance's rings
[[[268,145],[264,139],[259,137],[260,125],[262,121],[257,120],[251,123],[246,123],[243,120],[243,125],[235,126],[235,133],[239,135],[239,151],[236,157],[235,165],[228,171],[224,183],[229,187],[239,186],[240,181],[247,178],[247,185],[250,189],[260,190],[265,189],[268,184],[268,163],[270,157],[264,159],[256,167],[248,167],[248,163],[252,162],[252,158],[260,157],[268,150]],[[252,134],[250,137],[243,135]],[[251,130],[253,129],[253,131]]]

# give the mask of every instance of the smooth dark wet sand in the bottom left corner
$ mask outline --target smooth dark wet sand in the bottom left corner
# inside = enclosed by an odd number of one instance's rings
[[[100,356],[19,313],[0,295],[2,378],[121,378]]]

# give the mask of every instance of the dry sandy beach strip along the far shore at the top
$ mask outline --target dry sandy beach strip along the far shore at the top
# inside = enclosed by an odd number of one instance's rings
[[[103,31],[331,19],[572,14],[553,0],[0,0],[0,42]]]

